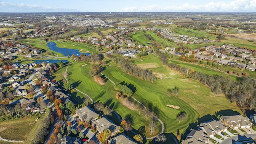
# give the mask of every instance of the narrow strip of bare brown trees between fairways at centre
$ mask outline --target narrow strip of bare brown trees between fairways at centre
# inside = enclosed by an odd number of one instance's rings
[[[144,70],[126,58],[120,58],[118,64],[124,72],[132,76],[142,78],[142,80],[149,80],[152,83],[156,80],[156,76],[150,70]]]

